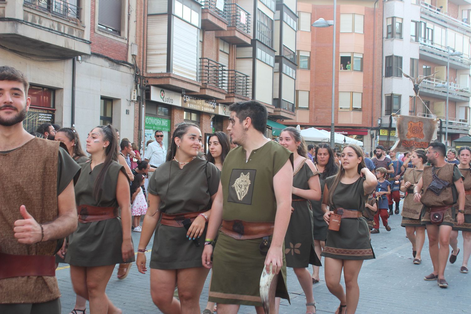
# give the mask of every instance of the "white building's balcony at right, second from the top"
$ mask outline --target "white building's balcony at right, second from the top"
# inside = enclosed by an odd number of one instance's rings
[[[446,65],[447,55],[447,47],[438,45],[432,40],[419,37],[419,56],[421,59]],[[469,70],[470,64],[471,60],[468,55],[450,56],[450,67],[453,69]]]

